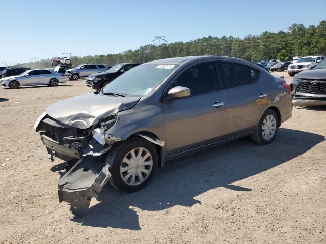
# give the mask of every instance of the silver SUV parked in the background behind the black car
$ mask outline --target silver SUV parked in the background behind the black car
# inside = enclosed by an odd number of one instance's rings
[[[86,64],[78,65],[74,69],[66,70],[65,76],[70,80],[78,80],[80,77],[87,77],[99,72],[106,72],[104,64]]]

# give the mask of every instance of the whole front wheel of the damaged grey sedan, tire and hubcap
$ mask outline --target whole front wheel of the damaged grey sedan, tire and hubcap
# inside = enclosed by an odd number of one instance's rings
[[[155,174],[158,156],[155,146],[139,137],[116,143],[106,157],[110,165],[111,184],[122,192],[146,187]]]

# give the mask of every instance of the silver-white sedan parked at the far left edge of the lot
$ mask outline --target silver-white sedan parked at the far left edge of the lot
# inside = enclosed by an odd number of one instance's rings
[[[19,86],[49,85],[57,86],[66,82],[64,75],[48,69],[28,70],[16,76],[0,79],[0,86],[16,89]]]

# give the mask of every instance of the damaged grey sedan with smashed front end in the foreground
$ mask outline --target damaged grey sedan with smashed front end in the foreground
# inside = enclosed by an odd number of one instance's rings
[[[51,105],[34,128],[49,154],[73,165],[59,201],[84,215],[106,182],[135,192],[172,158],[246,136],[269,144],[291,114],[284,79],[241,59],[194,56],[139,65]]]

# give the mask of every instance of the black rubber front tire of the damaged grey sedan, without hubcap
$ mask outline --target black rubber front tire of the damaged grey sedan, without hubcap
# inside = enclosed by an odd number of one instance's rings
[[[120,174],[120,167],[122,165],[122,160],[129,153],[129,151],[138,147],[143,147],[150,152],[153,165],[150,174],[142,183],[139,185],[131,186],[126,184],[122,179]],[[111,185],[122,192],[132,193],[143,189],[149,184],[157,169],[158,156],[156,148],[151,142],[141,137],[132,137],[124,142],[117,142],[114,144],[111,150],[107,153],[105,163],[110,165],[110,173],[112,175],[110,178]]]

